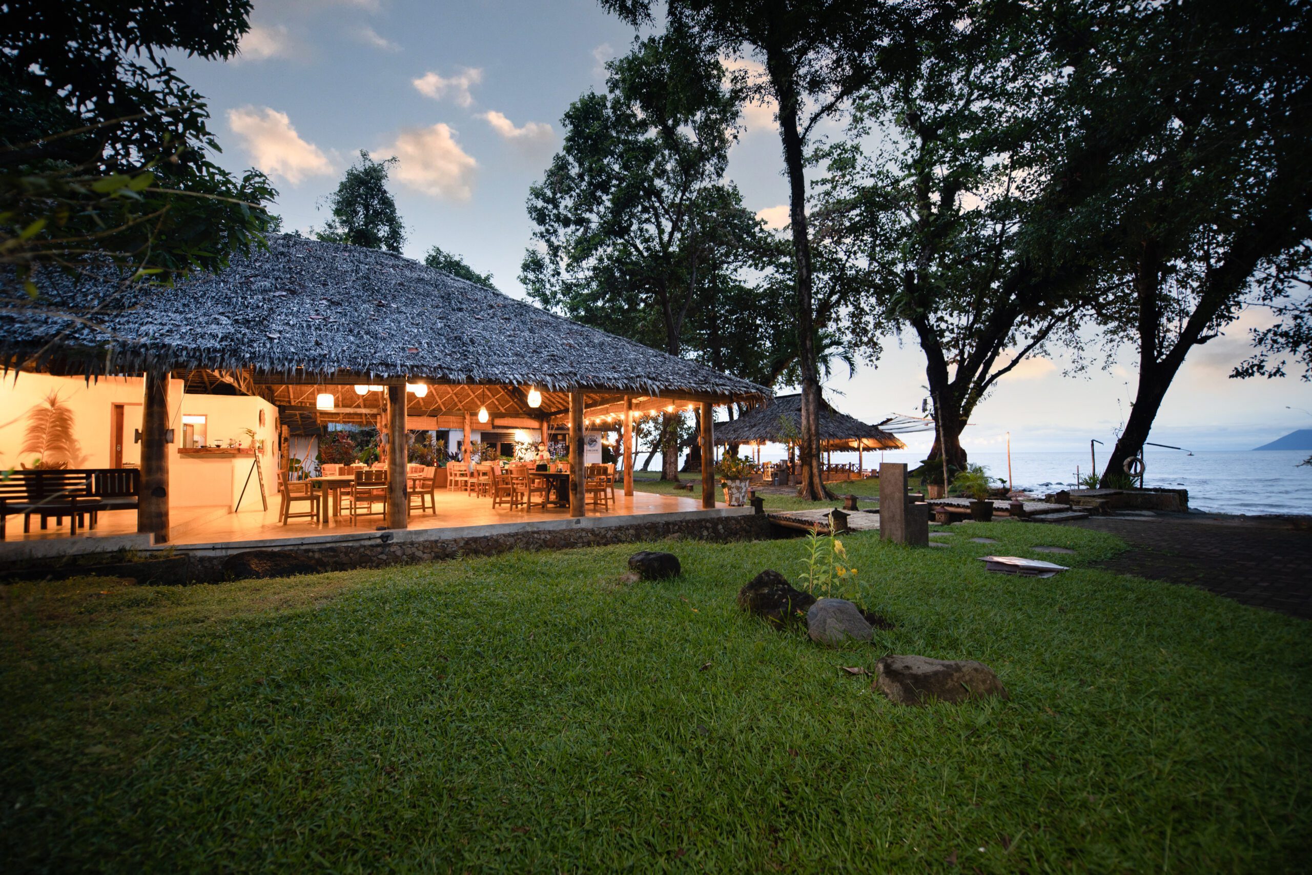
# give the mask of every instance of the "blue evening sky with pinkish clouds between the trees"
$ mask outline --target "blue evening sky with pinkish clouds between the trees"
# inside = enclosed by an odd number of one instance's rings
[[[522,298],[529,186],[560,144],[560,117],[580,94],[605,89],[604,63],[627,50],[632,30],[594,0],[256,0],[251,22],[232,60],[169,60],[209,98],[219,161],[273,178],[286,230],[323,226],[324,197],[359,150],[396,156],[404,253],[421,258],[440,245]],[[781,169],[770,108],[748,108],[729,177],[774,227],[787,213]],[[1244,450],[1312,428],[1312,384],[1227,378],[1246,357],[1246,329],[1263,319],[1248,312],[1193,350],[1151,439]],[[1082,376],[1067,366],[1035,359],[1004,378],[963,434],[966,449],[1001,449],[1006,433],[1015,451],[1077,450],[1090,438],[1110,447],[1134,395],[1132,354]],[[851,378],[844,370],[825,391],[838,409],[879,421],[918,411],[924,386],[907,337],[890,338],[876,367],[863,363]]]

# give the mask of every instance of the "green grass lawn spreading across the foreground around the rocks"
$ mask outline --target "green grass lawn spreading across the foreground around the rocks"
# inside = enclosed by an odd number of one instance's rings
[[[0,871],[1296,871],[1312,624],[1082,568],[998,522],[844,538],[896,622],[828,651],[741,614],[799,540],[215,586],[0,586]],[[974,535],[1000,544],[977,544]],[[1076,565],[985,575],[987,552]],[[1048,556],[1051,558],[1051,556]],[[897,707],[887,652],[1009,702]]]

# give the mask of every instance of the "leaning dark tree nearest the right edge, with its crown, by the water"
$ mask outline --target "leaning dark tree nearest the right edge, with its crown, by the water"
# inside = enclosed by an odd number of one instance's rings
[[[1064,142],[1119,142],[1094,203],[1122,232],[1098,317],[1139,353],[1103,483],[1141,451],[1194,346],[1252,299],[1279,308],[1302,287],[1312,239],[1308,18],[1307,4],[1273,0],[1090,4],[1061,22],[1063,39],[1096,59],[1063,97]]]

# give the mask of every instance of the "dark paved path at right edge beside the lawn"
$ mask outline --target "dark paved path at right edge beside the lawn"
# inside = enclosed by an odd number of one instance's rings
[[[1123,538],[1097,563],[1126,575],[1200,586],[1245,605],[1312,619],[1312,531],[1288,519],[1211,514],[1090,517],[1067,525]]]

